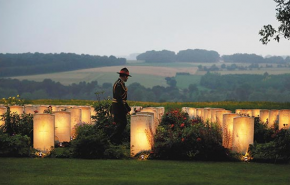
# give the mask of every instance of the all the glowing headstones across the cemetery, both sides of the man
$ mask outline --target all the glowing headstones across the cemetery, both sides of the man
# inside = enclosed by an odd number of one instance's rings
[[[52,114],[42,113],[47,106],[11,106],[10,111],[34,114],[33,146],[42,152],[47,152],[54,146],[55,137],[59,142],[70,141],[74,126],[78,123],[91,123],[91,115],[95,112],[90,106],[53,106]],[[0,115],[7,111],[0,106]],[[35,111],[39,113],[35,114]],[[135,112],[136,111],[136,112]],[[223,146],[232,151],[245,154],[249,144],[254,142],[254,117],[260,117],[262,122],[273,126],[279,123],[279,128],[289,129],[290,110],[236,109],[235,113],[222,108],[191,108],[183,107],[191,118],[200,117],[203,121],[216,122],[222,129]],[[134,114],[133,114],[134,113]],[[131,112],[131,154],[150,150],[153,138],[164,107],[132,107]],[[0,122],[0,125],[3,122]]]

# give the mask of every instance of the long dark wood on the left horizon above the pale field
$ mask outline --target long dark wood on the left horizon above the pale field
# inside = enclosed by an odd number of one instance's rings
[[[126,64],[125,58],[74,53],[1,54],[0,77],[54,73],[78,69]]]

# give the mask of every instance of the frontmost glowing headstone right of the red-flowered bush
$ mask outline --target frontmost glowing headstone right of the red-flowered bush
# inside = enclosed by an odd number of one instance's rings
[[[236,117],[233,127],[233,148],[232,151],[246,154],[249,145],[254,143],[254,118]]]

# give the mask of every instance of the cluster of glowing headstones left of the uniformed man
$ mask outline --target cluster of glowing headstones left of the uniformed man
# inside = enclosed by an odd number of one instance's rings
[[[43,113],[48,109],[51,113]],[[0,115],[5,114],[6,107],[0,107]],[[69,142],[74,128],[79,123],[91,123],[94,108],[91,106],[48,106],[26,105],[10,106],[10,112],[16,114],[33,114],[33,147],[41,152],[48,152],[54,147],[55,140]],[[0,121],[3,125],[4,121]]]

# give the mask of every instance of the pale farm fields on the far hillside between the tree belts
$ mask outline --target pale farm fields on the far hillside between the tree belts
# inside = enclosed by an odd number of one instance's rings
[[[190,75],[176,77],[177,86],[179,88],[187,88],[190,84],[199,84],[200,78],[206,73],[206,71],[199,71],[198,66],[210,67],[213,64],[220,67],[222,63],[163,63],[163,64],[150,64],[140,61],[128,61],[127,67],[130,70],[130,74],[133,76],[127,82],[127,85],[132,83],[140,83],[145,87],[152,88],[153,86],[167,86],[165,77],[175,77],[176,73],[185,72]],[[226,65],[231,65],[226,63]],[[245,66],[249,64],[237,64],[238,66]],[[16,76],[10,77],[19,80],[32,80],[41,82],[44,79],[52,79],[53,81],[60,82],[64,85],[72,83],[79,83],[82,81],[91,82],[97,80],[100,85],[103,83],[113,84],[118,78],[118,72],[124,66],[112,66],[112,67],[100,67],[91,69],[82,69],[76,71],[29,75],[29,76]],[[284,74],[289,73],[289,68],[277,68],[274,65],[273,68],[260,68],[253,70],[235,70],[235,71],[218,71],[222,75],[226,74]]]

